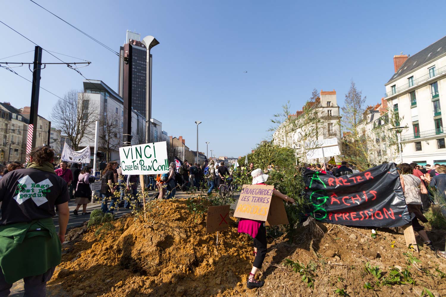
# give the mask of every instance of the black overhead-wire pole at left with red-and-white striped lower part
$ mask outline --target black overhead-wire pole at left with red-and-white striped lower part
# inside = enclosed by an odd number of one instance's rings
[[[29,113],[28,134],[26,139],[26,154],[36,147],[37,136],[37,118],[39,108],[39,91],[40,91],[40,70],[42,65],[42,48],[38,45],[34,48],[34,62],[33,62],[33,85],[31,89],[31,110]]]

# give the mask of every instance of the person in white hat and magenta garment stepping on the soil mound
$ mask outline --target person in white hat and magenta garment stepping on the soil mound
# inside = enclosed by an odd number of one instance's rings
[[[258,168],[251,172],[252,184],[253,185],[266,185],[266,180],[268,175],[264,174],[263,171]],[[295,203],[294,199],[282,194],[276,189],[273,190],[273,195],[284,199],[286,202]],[[260,288],[264,285],[264,281],[256,281],[256,273],[262,268],[263,261],[266,256],[266,228],[265,222],[259,220],[250,220],[241,218],[239,222],[240,233],[247,233],[254,239],[254,264],[252,265],[251,272],[249,273],[248,281],[246,287],[248,289]]]

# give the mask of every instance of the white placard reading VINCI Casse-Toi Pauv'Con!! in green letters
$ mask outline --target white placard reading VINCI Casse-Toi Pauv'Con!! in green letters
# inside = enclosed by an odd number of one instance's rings
[[[123,175],[162,174],[169,172],[165,141],[119,148]]]

